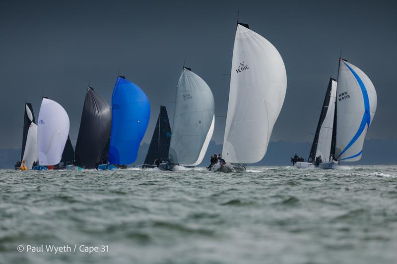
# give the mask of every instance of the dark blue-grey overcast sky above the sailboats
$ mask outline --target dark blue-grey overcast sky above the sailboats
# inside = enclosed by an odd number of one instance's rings
[[[226,115],[236,15],[270,41],[287,70],[271,141],[312,141],[339,51],[375,85],[367,139],[397,137],[396,1],[0,1],[0,148],[20,148],[24,103],[38,117],[42,93],[60,103],[77,138],[88,81],[107,102],[118,69],[151,103],[149,142],[161,104],[171,118],[186,66]],[[223,142],[225,118],[213,140]]]

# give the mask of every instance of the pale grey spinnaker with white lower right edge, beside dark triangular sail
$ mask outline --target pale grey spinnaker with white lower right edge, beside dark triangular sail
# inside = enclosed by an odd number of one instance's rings
[[[170,161],[196,166],[201,163],[213,133],[214,98],[211,89],[188,68],[178,82]]]

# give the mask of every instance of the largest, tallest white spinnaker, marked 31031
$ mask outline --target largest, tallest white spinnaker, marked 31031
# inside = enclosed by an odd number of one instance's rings
[[[266,153],[287,88],[284,62],[264,37],[237,26],[222,158],[254,163]]]

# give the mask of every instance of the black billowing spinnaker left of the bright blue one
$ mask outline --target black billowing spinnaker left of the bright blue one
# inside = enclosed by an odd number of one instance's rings
[[[78,130],[75,164],[95,168],[110,137],[112,109],[94,89],[89,87],[85,95],[80,129]]]

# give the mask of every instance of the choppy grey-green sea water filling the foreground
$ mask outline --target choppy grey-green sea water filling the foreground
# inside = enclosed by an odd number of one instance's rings
[[[2,264],[397,262],[397,166],[1,170],[0,195]]]

